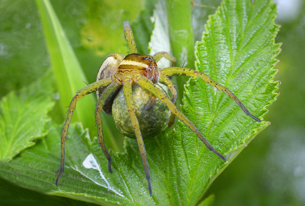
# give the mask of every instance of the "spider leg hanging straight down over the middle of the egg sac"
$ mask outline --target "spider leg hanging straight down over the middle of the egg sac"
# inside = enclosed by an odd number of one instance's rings
[[[151,187],[151,182],[150,182],[150,173],[149,173],[148,162],[147,162],[147,158],[146,158],[145,146],[144,146],[142,134],[140,131],[139,122],[138,122],[137,116],[135,114],[135,105],[134,105],[133,98],[132,98],[131,75],[127,75],[124,77],[123,89],[124,89],[124,97],[125,97],[125,101],[127,104],[127,109],[128,109],[128,113],[130,116],[130,120],[134,127],[135,135],[136,135],[136,138],[138,141],[138,146],[139,146],[139,150],[140,150],[140,154],[141,154],[141,158],[142,158],[142,162],[143,162],[143,166],[144,166],[144,171],[145,171],[145,175],[146,175],[146,179],[147,179],[147,183],[148,183],[149,194],[150,194],[150,196],[152,196],[152,187]]]

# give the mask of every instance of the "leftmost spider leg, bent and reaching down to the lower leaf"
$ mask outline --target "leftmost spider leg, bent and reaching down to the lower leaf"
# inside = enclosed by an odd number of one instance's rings
[[[107,86],[111,83],[111,79],[102,79],[98,82],[94,82],[92,84],[89,84],[88,86],[84,87],[83,89],[79,90],[76,95],[73,97],[70,106],[69,106],[69,110],[68,110],[68,114],[67,114],[67,118],[66,118],[66,122],[63,126],[63,130],[61,131],[61,138],[60,138],[60,144],[61,144],[61,156],[60,156],[60,169],[59,169],[59,173],[58,176],[56,178],[55,181],[55,185],[58,184],[59,178],[61,176],[61,174],[64,172],[64,164],[65,164],[65,141],[67,139],[67,132],[68,132],[68,128],[69,125],[71,123],[71,119],[72,119],[72,114],[74,112],[75,106],[76,106],[76,101],[78,99],[81,99],[83,96],[90,94],[92,92],[95,92],[96,90],[100,89],[103,86]]]

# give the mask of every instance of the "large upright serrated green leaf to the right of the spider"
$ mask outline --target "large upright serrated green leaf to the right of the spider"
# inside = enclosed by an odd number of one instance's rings
[[[196,44],[196,68],[231,89],[251,113],[263,117],[276,100],[272,81],[280,44],[274,44],[276,5],[272,1],[224,1],[210,16],[203,40]],[[257,123],[224,93],[202,79],[185,85],[183,113],[225,154],[228,163],[270,122]],[[179,122],[167,140],[169,195],[174,205],[193,205],[228,165],[211,153]],[[168,144],[170,145],[170,143]],[[181,189],[183,188],[183,189]]]

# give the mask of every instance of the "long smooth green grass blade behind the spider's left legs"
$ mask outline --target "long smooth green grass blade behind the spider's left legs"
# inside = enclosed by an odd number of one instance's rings
[[[63,28],[56,16],[51,3],[48,0],[36,1],[38,10],[40,11],[41,22],[45,34],[46,45],[51,59],[52,70],[55,75],[57,89],[59,92],[59,102],[62,108],[63,116],[66,115],[66,106],[69,106],[75,93],[86,86],[88,82],[81,69],[74,51],[63,31]],[[81,109],[80,106],[75,108],[75,113],[72,121],[81,121],[85,128],[94,134],[95,118],[93,115],[94,105],[96,104],[95,96],[88,95],[82,98],[81,105],[83,108],[92,108],[92,113],[86,109]],[[117,149],[116,141],[109,129],[106,121],[103,123],[105,130],[104,134],[112,148]],[[111,144],[110,144],[111,143]]]

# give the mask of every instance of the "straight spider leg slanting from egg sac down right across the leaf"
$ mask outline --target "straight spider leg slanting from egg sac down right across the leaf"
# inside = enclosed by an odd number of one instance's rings
[[[203,136],[203,134],[201,134],[201,132],[199,132],[197,127],[190,120],[188,120],[188,118],[185,117],[184,114],[182,114],[177,109],[176,105],[170,100],[170,98],[167,97],[167,95],[162,90],[160,90],[158,88],[157,84],[153,84],[152,81],[150,81],[149,79],[147,79],[144,76],[141,76],[140,74],[135,75],[135,80],[138,83],[138,85],[141,86],[143,89],[146,89],[147,91],[149,91],[150,93],[152,93],[153,95],[158,97],[161,101],[166,103],[166,105],[168,106],[170,111],[172,113],[174,113],[179,119],[181,119],[200,138],[200,140],[203,141],[203,143],[206,145],[206,147],[210,151],[212,151],[215,155],[217,155],[218,157],[220,157],[224,161],[227,161],[226,158],[222,154],[217,152],[212,147],[210,142]]]

